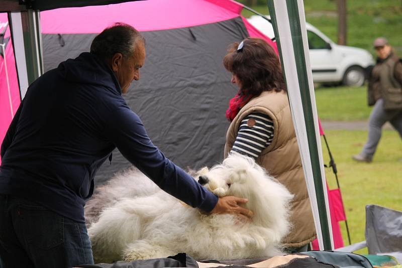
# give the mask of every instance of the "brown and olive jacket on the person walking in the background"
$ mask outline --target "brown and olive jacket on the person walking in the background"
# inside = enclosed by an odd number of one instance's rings
[[[402,60],[391,53],[377,59],[368,79],[368,105],[383,99],[383,108],[402,109]]]

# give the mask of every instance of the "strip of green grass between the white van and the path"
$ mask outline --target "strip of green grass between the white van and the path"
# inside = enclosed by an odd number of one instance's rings
[[[318,116],[321,120],[367,120],[371,107],[367,106],[367,87],[316,88]]]

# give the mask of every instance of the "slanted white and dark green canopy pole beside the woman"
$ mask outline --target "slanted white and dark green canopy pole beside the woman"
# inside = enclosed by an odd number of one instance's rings
[[[267,0],[321,250],[333,250],[303,0]],[[280,16],[276,17],[276,14]]]

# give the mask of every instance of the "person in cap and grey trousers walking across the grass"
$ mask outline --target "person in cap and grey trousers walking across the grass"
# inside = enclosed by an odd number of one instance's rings
[[[381,138],[381,127],[389,121],[402,138],[402,60],[388,41],[374,40],[377,62],[368,78],[368,105],[373,107],[368,122],[368,140],[353,160],[370,163]]]

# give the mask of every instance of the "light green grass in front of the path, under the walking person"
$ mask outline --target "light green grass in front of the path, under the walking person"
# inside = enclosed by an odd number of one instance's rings
[[[393,130],[384,130],[370,164],[356,163],[351,156],[358,154],[367,139],[367,131],[326,130],[326,138],[337,164],[339,183],[352,243],[365,240],[365,205],[376,204],[402,211],[402,142]],[[322,139],[324,162],[328,152]],[[335,175],[326,169],[330,189],[336,188]],[[340,223],[345,245],[348,244],[345,224]],[[367,253],[367,249],[356,251]]]

